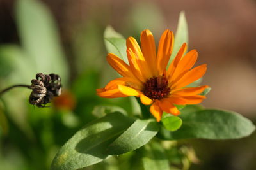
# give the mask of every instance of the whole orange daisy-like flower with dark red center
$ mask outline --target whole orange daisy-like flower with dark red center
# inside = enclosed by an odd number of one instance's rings
[[[129,65],[113,53],[107,60],[122,78],[110,81],[106,87],[97,89],[97,94],[105,98],[126,96],[140,97],[141,103],[150,105],[150,112],[157,122],[163,111],[179,115],[175,104],[199,104],[205,96],[199,95],[207,86],[186,87],[204,76],[206,64],[191,69],[197,59],[196,50],[186,52],[184,43],[175,59],[166,69],[173,48],[173,32],[166,30],[159,41],[158,52],[154,37],[149,30],[141,32],[141,48],[132,37],[127,38]],[[184,56],[183,56],[184,55]]]

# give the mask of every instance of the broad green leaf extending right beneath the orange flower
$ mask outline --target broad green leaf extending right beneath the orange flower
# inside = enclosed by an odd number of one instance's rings
[[[183,123],[179,131],[161,129],[160,134],[164,134],[165,139],[238,139],[249,136],[255,130],[248,118],[234,111],[201,110],[182,113],[180,118]]]

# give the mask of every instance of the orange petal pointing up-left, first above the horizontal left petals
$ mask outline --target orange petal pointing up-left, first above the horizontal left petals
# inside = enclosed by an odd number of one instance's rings
[[[117,71],[121,76],[134,77],[132,75],[130,66],[128,66],[123,60],[117,57],[113,53],[109,53],[107,56],[108,63],[113,69]]]

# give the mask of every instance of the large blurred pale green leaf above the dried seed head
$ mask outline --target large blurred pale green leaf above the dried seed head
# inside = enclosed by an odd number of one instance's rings
[[[18,0],[15,18],[22,47],[37,72],[60,74],[67,81],[68,65],[61,47],[57,25],[41,1]]]

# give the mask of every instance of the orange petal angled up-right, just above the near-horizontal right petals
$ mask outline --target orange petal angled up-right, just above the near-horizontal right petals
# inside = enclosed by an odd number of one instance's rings
[[[181,87],[185,87],[186,85],[189,85],[190,83],[193,83],[194,81],[204,76],[206,69],[207,69],[207,64],[202,64],[201,66],[191,69],[186,74],[184,74],[182,78],[174,82],[171,89],[173,90],[179,89]]]

